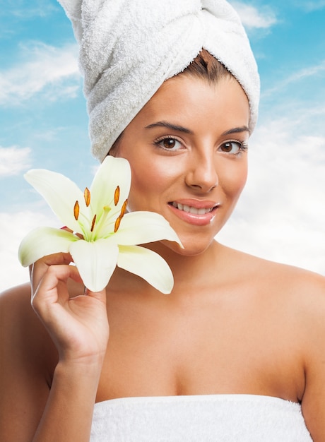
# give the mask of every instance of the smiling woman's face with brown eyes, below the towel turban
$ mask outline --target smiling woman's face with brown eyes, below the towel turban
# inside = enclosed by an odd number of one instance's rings
[[[247,178],[249,104],[232,78],[167,80],[126,127],[114,155],[129,160],[129,210],[160,213],[184,245],[204,251]]]

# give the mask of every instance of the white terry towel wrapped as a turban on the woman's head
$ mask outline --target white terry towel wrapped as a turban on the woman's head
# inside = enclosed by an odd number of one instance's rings
[[[202,48],[228,68],[256,124],[259,75],[244,28],[225,0],[59,0],[73,24],[88,100],[92,152],[102,161],[160,85]]]

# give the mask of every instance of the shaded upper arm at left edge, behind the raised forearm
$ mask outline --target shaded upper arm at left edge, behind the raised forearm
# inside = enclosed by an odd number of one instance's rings
[[[0,438],[13,441],[17,434],[35,431],[57,358],[30,305],[29,285],[0,295],[0,354]]]

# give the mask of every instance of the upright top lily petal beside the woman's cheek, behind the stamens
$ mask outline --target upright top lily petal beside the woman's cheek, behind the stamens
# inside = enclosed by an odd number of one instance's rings
[[[100,165],[93,184],[90,187],[90,205],[93,213],[102,213],[104,205],[114,206],[114,191],[119,186],[119,202],[116,205],[118,213],[124,201],[129,196],[131,186],[131,169],[129,162],[124,158],[115,158],[110,155]]]

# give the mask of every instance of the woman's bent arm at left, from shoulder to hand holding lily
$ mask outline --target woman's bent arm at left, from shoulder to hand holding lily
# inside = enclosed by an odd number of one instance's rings
[[[47,257],[32,272],[32,306],[47,333],[26,310],[25,295],[8,293],[1,300],[1,441],[89,441],[108,339],[106,295],[71,298],[67,281],[81,281],[69,261],[62,254]],[[53,354],[49,388],[46,361]]]

